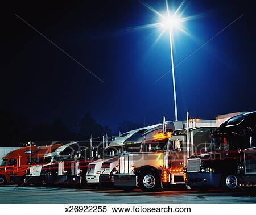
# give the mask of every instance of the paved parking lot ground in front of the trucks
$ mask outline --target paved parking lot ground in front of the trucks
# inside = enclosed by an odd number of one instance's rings
[[[256,192],[198,193],[177,188],[158,192],[125,192],[115,188],[0,186],[0,203],[256,203]]]

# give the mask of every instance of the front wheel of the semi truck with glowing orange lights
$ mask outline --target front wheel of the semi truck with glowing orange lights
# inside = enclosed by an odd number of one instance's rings
[[[139,188],[143,191],[155,191],[159,188],[159,184],[159,176],[153,171],[142,172],[139,175]]]

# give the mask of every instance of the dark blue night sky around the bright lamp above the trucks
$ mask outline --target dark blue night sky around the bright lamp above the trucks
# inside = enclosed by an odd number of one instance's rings
[[[164,0],[145,0],[158,11]],[[181,1],[169,1],[176,9]],[[194,39],[174,32],[179,119],[201,119],[256,109],[255,10],[252,1],[186,1],[184,23]],[[4,10],[4,11],[3,11]],[[140,1],[33,1],[2,7],[2,107],[32,122],[58,118],[76,124],[89,112],[116,130],[123,120],[154,124],[174,120],[170,44],[160,29],[135,30],[155,22]],[[100,77],[57,49],[28,24]]]

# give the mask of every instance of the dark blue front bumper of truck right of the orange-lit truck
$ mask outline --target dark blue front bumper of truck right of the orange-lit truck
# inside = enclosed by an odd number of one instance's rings
[[[221,173],[210,172],[186,172],[184,175],[185,183],[189,187],[214,187],[219,188]]]

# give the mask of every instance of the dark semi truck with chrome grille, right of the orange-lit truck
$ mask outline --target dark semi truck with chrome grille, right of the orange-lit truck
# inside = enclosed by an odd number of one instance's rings
[[[184,179],[191,189],[204,191],[220,188],[232,191],[238,187],[237,167],[243,161],[242,151],[255,136],[256,112],[230,118],[212,133],[209,153],[193,155],[184,168]]]

